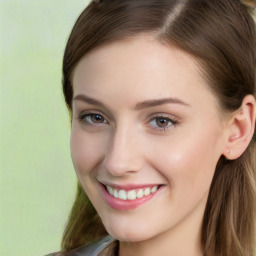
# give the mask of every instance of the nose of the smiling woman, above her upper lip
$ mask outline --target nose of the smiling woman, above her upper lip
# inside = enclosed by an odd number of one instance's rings
[[[117,177],[137,173],[143,164],[141,153],[135,132],[128,127],[116,129],[110,138],[103,167]]]

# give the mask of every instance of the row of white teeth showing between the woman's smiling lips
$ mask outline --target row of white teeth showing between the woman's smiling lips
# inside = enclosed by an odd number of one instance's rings
[[[145,188],[138,188],[138,189],[131,189],[131,190],[118,189],[108,185],[104,185],[104,187],[108,192],[108,194],[110,194],[111,196],[117,199],[126,201],[126,200],[141,199],[151,194],[154,194],[161,187],[161,185],[149,186]]]

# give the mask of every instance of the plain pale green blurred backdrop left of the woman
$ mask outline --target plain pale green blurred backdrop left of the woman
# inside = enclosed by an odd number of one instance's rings
[[[60,248],[76,188],[61,62],[87,4],[0,0],[0,255]]]

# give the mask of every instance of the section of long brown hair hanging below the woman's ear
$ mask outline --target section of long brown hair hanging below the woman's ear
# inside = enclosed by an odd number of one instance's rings
[[[251,141],[238,159],[218,162],[203,222],[207,256],[255,256],[255,149]]]

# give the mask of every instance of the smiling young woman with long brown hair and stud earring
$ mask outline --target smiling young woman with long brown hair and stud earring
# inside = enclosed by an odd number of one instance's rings
[[[247,7],[103,0],[83,11],[63,61],[79,184],[55,255],[254,255]]]

